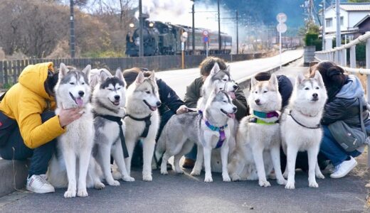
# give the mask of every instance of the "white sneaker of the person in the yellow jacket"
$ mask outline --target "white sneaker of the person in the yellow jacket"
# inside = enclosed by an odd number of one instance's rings
[[[31,178],[27,178],[26,190],[40,194],[56,191],[46,180],[46,175],[32,175]]]

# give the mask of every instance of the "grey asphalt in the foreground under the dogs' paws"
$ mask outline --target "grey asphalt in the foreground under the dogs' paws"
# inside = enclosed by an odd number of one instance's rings
[[[303,70],[287,67],[282,73],[295,75]],[[366,212],[368,190],[364,185],[369,174],[361,163],[366,155],[358,161],[360,165],[346,178],[334,180],[325,175],[324,180],[317,180],[317,189],[309,188],[307,173],[297,170],[295,190],[285,190],[274,180],[268,188],[259,187],[257,181],[222,182],[219,173],[213,173],[214,182],[206,183],[204,173],[194,178],[189,170],[185,175],[169,171],[167,176],[155,170],[153,182],[143,182],[136,168],[132,172],[135,182],[101,191],[90,189],[89,197],[65,199],[64,190],[2,197],[0,212]]]

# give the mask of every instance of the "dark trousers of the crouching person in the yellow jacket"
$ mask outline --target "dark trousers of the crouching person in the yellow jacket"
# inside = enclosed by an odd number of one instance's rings
[[[53,116],[56,116],[54,111],[45,111],[41,114],[41,121],[45,122]],[[0,131],[6,130],[0,129]],[[45,143],[43,146],[31,149],[24,144],[21,132],[18,126],[16,126],[10,133],[9,138],[5,140],[3,141],[4,146],[0,148],[1,158],[5,160],[26,160],[31,158],[31,165],[28,170],[29,177],[46,173],[51,156],[56,150],[56,139]]]

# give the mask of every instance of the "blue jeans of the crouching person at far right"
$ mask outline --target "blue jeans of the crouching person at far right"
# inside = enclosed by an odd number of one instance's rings
[[[347,160],[349,156],[357,157],[361,154],[356,150],[352,152],[344,151],[337,141],[335,141],[329,128],[323,125],[322,129],[324,131],[324,136],[322,136],[319,155],[330,160],[334,166],[341,164],[344,160]]]

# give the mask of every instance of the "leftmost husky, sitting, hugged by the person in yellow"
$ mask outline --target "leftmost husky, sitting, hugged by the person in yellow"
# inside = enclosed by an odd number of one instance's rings
[[[88,196],[86,176],[93,148],[93,113],[91,111],[89,74],[91,66],[83,71],[68,70],[60,63],[59,79],[56,84],[56,114],[60,109],[83,108],[80,119],[65,126],[67,131],[58,137],[57,153],[51,160],[48,180],[55,187],[65,187],[65,171],[68,176],[68,190],[64,197]],[[78,160],[78,163],[77,163]],[[77,178],[78,182],[76,182]],[[77,184],[77,185],[76,185]]]

